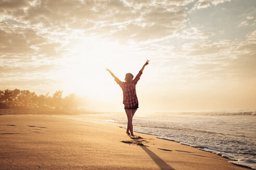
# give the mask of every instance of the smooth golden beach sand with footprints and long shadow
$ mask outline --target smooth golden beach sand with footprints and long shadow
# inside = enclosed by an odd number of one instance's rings
[[[248,169],[156,136],[132,139],[104,121],[112,116],[0,115],[0,169]]]

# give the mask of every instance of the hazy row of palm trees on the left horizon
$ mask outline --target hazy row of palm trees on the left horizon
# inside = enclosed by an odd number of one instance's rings
[[[75,93],[62,97],[61,90],[52,96],[49,92],[37,95],[29,90],[0,90],[0,108],[50,108],[50,109],[78,109],[84,106],[84,98]]]

